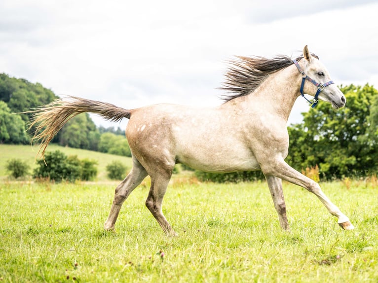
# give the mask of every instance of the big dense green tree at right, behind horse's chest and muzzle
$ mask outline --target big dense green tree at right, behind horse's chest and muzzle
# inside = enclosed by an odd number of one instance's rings
[[[366,177],[377,172],[375,122],[378,91],[370,85],[341,87],[346,106],[334,110],[320,103],[302,113],[303,124],[291,125],[289,156],[294,168],[319,166],[321,177]],[[369,123],[370,121],[370,123]]]

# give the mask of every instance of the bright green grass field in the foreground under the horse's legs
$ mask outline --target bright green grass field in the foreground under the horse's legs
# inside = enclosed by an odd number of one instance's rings
[[[378,188],[322,183],[356,226],[343,231],[317,198],[284,184],[292,233],[281,231],[265,182],[177,178],[163,211],[148,181],[103,231],[113,184],[0,182],[1,282],[378,282]],[[349,189],[348,189],[349,188]]]

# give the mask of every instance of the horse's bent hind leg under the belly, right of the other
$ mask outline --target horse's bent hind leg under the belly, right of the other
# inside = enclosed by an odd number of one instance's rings
[[[164,194],[167,190],[169,180],[172,173],[164,173],[157,176],[151,176],[151,188],[149,196],[146,200],[146,206],[152,213],[153,217],[157,220],[161,228],[167,235],[177,236],[176,232],[172,230],[167,219],[165,218],[161,205],[163,203]]]

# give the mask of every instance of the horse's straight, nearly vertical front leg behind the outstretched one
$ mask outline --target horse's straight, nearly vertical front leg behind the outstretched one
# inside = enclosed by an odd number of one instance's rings
[[[286,216],[286,204],[282,191],[282,180],[274,176],[265,176],[269,186],[270,195],[273,199],[274,208],[278,213],[278,218],[282,229],[290,232],[289,222]]]

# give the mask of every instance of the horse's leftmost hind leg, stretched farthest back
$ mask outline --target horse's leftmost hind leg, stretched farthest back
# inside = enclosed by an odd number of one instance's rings
[[[123,202],[148,175],[143,166],[135,158],[133,158],[133,164],[133,168],[129,175],[127,175],[127,177],[115,188],[112,209],[110,210],[108,219],[104,224],[105,230],[114,230],[114,224]]]

